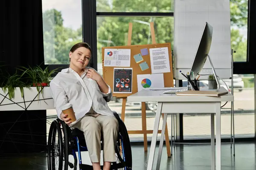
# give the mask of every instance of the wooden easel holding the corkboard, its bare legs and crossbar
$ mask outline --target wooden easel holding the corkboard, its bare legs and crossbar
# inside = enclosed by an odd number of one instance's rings
[[[151,39],[152,44],[156,44],[155,34],[154,34],[154,23],[150,23],[150,30],[151,30]],[[128,42],[127,45],[131,45],[131,34],[132,34],[132,23],[129,23],[129,29],[128,29]],[[126,106],[127,97],[122,98],[122,113],[121,113],[121,119],[123,122],[125,122],[125,106]],[[129,134],[143,134],[144,135],[144,151],[148,151],[148,140],[147,140],[147,134],[152,134],[153,130],[147,130],[146,126],[146,104],[145,102],[141,102],[141,117],[142,117],[142,130],[128,130]],[[171,157],[171,150],[170,150],[170,142],[169,142],[169,134],[168,134],[168,128],[166,124],[166,130],[165,130],[165,139],[166,139],[166,150],[167,150],[167,156]],[[158,133],[161,133],[162,130],[158,130]]]

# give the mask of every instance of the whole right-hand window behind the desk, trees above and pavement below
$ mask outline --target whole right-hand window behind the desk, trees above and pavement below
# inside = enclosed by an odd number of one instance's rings
[[[254,11],[253,7],[250,10]],[[234,63],[234,72],[237,73],[234,74],[235,137],[255,136],[254,76],[253,74],[241,74],[241,72],[253,73],[253,68],[247,65],[249,62],[247,57],[247,23],[248,0],[230,0],[231,48],[236,51],[233,54],[233,59],[234,62],[244,62]],[[230,79],[224,81],[230,84]],[[224,103],[221,104],[223,105]],[[221,110],[222,137],[230,137],[230,108],[231,102]],[[210,138],[209,122],[209,114],[183,115],[183,138]]]

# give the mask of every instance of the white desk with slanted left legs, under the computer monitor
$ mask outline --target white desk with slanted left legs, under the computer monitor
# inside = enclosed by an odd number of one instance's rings
[[[221,87],[220,91],[227,91]],[[161,113],[212,113],[211,114],[211,148],[212,148],[212,168],[215,170],[215,134],[214,134],[214,114],[216,114],[216,170],[221,170],[221,102],[234,101],[234,96],[230,93],[220,97],[209,96],[176,96],[160,95],[163,91],[143,90],[128,96],[128,102],[158,102],[157,113],[154,121],[153,137],[151,141],[147,170],[152,170],[154,153],[157,142],[157,131]],[[163,127],[157,156],[157,170],[160,167],[163,139],[167,114],[164,114]]]

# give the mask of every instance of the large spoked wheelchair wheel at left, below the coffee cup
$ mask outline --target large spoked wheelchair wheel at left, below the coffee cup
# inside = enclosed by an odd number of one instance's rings
[[[66,134],[65,134],[66,133]],[[64,142],[63,138],[64,136]],[[67,170],[68,168],[68,142],[66,137],[67,130],[61,130],[61,123],[53,121],[48,137],[48,170]]]

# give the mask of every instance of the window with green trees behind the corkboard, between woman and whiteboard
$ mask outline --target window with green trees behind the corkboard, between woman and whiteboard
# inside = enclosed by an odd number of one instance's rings
[[[129,23],[133,23],[131,45],[151,44],[150,23],[154,23],[157,43],[171,42],[173,48],[174,0],[96,0],[97,68],[102,74],[102,47],[127,45]],[[141,102],[127,102],[125,125],[141,130]],[[121,113],[122,100],[113,97],[111,110]],[[147,129],[152,130],[156,103],[146,103]],[[152,111],[153,110],[153,111]],[[148,134],[150,139],[152,134]],[[131,141],[143,140],[142,134],[130,134]]]

